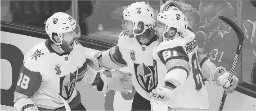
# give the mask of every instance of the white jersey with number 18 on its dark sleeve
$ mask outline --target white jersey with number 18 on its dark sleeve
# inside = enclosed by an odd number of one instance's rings
[[[72,109],[81,103],[75,85],[76,81],[82,80],[85,73],[81,72],[88,67],[85,50],[75,41],[73,51],[58,55],[50,47],[50,42],[38,43],[27,53],[13,102],[30,98],[39,110],[54,110],[64,106],[58,97],[60,95]]]

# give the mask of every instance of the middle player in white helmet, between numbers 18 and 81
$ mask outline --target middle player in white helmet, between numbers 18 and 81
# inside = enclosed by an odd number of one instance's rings
[[[122,13],[122,28],[125,30],[119,35],[117,46],[88,54],[88,58],[100,68],[130,68],[136,90],[131,109],[133,111],[149,111],[149,93],[160,84],[152,60],[153,48],[157,43],[157,36],[150,24],[153,17],[153,9],[146,2],[130,4]]]

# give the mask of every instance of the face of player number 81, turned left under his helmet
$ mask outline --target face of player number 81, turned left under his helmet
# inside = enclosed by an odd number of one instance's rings
[[[165,24],[163,24],[159,21],[156,21],[155,25],[154,25],[154,30],[155,30],[155,34],[157,34],[157,36],[159,37],[158,41],[162,42],[162,40],[163,40],[162,35],[165,31]]]

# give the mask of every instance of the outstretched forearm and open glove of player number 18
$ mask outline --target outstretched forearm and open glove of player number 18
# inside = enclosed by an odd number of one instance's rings
[[[88,64],[86,67],[78,69],[77,81],[82,84],[89,84],[96,86],[98,91],[106,94],[109,90],[116,90],[128,94],[128,90],[134,90],[132,84],[132,74],[128,72],[116,71],[103,71],[103,73],[96,72],[90,68]]]

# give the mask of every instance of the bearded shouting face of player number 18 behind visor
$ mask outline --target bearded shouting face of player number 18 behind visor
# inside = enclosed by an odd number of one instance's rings
[[[71,52],[74,47],[74,41],[81,37],[80,27],[77,26],[75,30],[63,33],[63,42],[60,45],[63,51]]]

